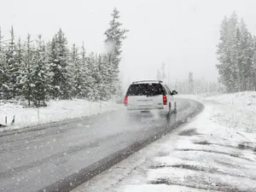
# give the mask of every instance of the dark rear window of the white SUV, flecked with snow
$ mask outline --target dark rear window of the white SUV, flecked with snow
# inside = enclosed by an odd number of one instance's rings
[[[166,95],[161,84],[131,84],[126,96],[158,96]]]

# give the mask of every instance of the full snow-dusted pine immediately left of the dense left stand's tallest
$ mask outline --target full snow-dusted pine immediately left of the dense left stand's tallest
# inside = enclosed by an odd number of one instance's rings
[[[42,36],[38,35],[32,65],[32,100],[37,107],[46,106],[51,90],[52,74],[46,56],[46,49]]]

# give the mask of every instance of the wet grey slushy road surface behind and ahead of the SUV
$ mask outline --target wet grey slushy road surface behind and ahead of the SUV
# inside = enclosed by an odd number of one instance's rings
[[[199,108],[197,102],[177,102],[177,121],[188,119]],[[121,110],[38,131],[0,135],[0,191],[38,191],[53,183],[73,188],[75,183],[58,181],[170,129],[166,119],[146,114],[131,120]]]

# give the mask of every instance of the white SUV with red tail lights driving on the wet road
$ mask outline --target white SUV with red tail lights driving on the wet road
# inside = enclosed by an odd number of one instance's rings
[[[125,95],[128,110],[151,111],[160,113],[177,113],[177,103],[173,98],[176,90],[171,90],[159,80],[133,82]]]

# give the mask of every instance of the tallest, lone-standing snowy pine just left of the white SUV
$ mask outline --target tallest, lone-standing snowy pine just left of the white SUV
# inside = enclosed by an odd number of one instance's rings
[[[109,28],[104,33],[106,35],[105,45],[107,48],[108,54],[108,62],[109,77],[112,77],[111,82],[109,84],[113,84],[114,86],[111,88],[111,92],[113,95],[117,93],[119,89],[119,61],[121,61],[121,53],[122,53],[122,42],[126,38],[125,33],[129,32],[126,29],[121,28],[122,24],[119,22],[119,11],[114,8],[112,14],[112,20],[109,22]]]

